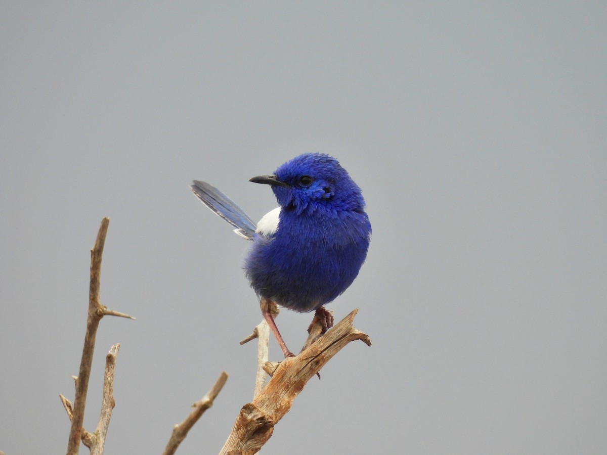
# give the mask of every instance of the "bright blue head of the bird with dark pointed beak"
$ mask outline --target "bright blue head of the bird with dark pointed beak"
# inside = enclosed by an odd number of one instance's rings
[[[270,184],[281,207],[298,213],[362,210],[361,189],[339,162],[325,153],[304,153],[280,166],[272,175],[251,178]]]

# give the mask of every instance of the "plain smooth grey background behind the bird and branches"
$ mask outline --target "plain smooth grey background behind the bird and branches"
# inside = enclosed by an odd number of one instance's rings
[[[267,454],[607,453],[607,6],[13,2],[0,7],[0,450],[63,453],[89,249],[109,216],[85,425],[116,342],[107,454],[219,451],[253,393],[249,183],[303,152],[362,187],[373,238],[330,305],[348,345]],[[297,349],[311,315],[283,311]],[[280,359],[274,341],[271,357]],[[86,451],[86,448],[81,450]]]

